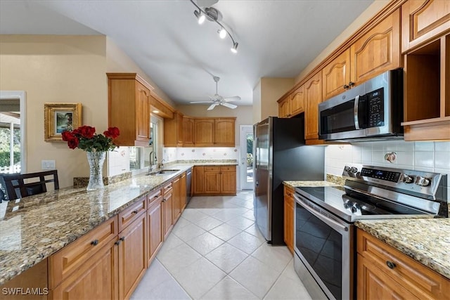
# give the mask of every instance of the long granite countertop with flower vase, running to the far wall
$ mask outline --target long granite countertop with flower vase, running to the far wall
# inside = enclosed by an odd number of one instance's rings
[[[31,268],[103,221],[117,215],[142,195],[164,185],[194,165],[236,165],[234,162],[167,164],[174,174],[135,175],[105,185],[103,190],[63,188],[0,204],[0,285]]]

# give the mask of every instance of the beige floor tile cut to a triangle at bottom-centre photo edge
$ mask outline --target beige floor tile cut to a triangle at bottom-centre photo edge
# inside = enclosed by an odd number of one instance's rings
[[[215,285],[209,292],[202,297],[205,300],[230,299],[230,300],[252,300],[258,299],[248,289],[245,289],[233,278],[226,276],[217,285]]]

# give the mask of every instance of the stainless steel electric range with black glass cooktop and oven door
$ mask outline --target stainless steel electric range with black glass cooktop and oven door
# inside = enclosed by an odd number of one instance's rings
[[[295,189],[294,268],[313,299],[354,299],[354,221],[448,217],[446,176],[345,167],[344,188]]]

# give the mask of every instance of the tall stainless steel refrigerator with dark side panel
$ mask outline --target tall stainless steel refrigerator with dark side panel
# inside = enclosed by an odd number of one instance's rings
[[[283,244],[283,181],[324,180],[325,147],[307,146],[304,117],[269,117],[253,126],[254,214],[271,244]]]

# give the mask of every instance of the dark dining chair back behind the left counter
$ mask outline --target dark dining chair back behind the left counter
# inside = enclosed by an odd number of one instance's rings
[[[58,170],[28,174],[3,174],[1,177],[5,183],[8,200],[45,193],[47,183],[52,182],[54,190],[59,190]]]

